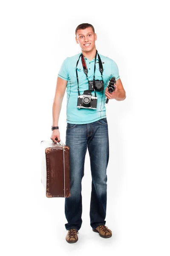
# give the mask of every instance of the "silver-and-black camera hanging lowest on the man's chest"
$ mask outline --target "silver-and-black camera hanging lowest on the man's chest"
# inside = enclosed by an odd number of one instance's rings
[[[97,108],[97,97],[91,94],[90,90],[85,90],[82,95],[78,96],[77,108]]]

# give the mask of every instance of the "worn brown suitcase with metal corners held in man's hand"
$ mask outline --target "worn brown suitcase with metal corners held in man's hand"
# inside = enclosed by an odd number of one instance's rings
[[[62,141],[41,142],[41,183],[48,198],[71,196],[69,147]]]

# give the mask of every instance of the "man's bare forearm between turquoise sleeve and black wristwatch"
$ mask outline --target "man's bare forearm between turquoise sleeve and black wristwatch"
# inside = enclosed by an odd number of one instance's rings
[[[62,100],[65,94],[67,82],[60,77],[57,77],[56,92],[53,103],[53,126],[58,126],[59,114],[62,107]]]

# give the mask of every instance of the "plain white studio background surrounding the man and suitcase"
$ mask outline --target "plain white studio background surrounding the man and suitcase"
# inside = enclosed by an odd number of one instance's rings
[[[90,226],[88,151],[82,179],[82,227],[65,241],[64,198],[46,198],[40,143],[50,140],[62,61],[81,52],[80,23],[112,58],[126,91],[110,100],[106,226]],[[170,255],[170,40],[167,1],[2,1],[0,3],[1,250],[6,255]],[[59,117],[65,142],[66,93]]]

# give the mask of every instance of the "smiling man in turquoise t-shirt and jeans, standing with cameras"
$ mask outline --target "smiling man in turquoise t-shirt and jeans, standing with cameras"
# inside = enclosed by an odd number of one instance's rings
[[[96,51],[97,35],[88,23],[77,26],[76,42],[82,52],[66,58],[58,73],[53,104],[53,130],[51,140],[60,141],[58,120],[62,99],[67,88],[67,129],[65,144],[70,147],[70,192],[65,198],[65,224],[68,230],[66,241],[77,242],[78,230],[82,225],[82,177],[84,176],[85,154],[88,148],[91,162],[92,190],[90,225],[103,238],[112,236],[105,226],[107,201],[106,169],[109,160],[108,123],[105,102],[108,99],[125,99],[125,90],[119,77],[118,67],[111,58]],[[108,81],[115,77],[116,89],[108,92]],[[99,80],[98,85],[95,81]],[[102,83],[103,81],[103,83]],[[90,86],[92,88],[90,88]],[[99,87],[97,87],[99,86]],[[90,89],[92,90],[90,90]],[[86,91],[86,92],[85,92]],[[86,95],[85,95],[86,94]],[[85,101],[80,97],[86,96]],[[88,96],[87,96],[88,95]],[[91,97],[90,105],[89,95]],[[106,96],[106,97],[105,97]],[[79,101],[77,100],[79,97]]]

